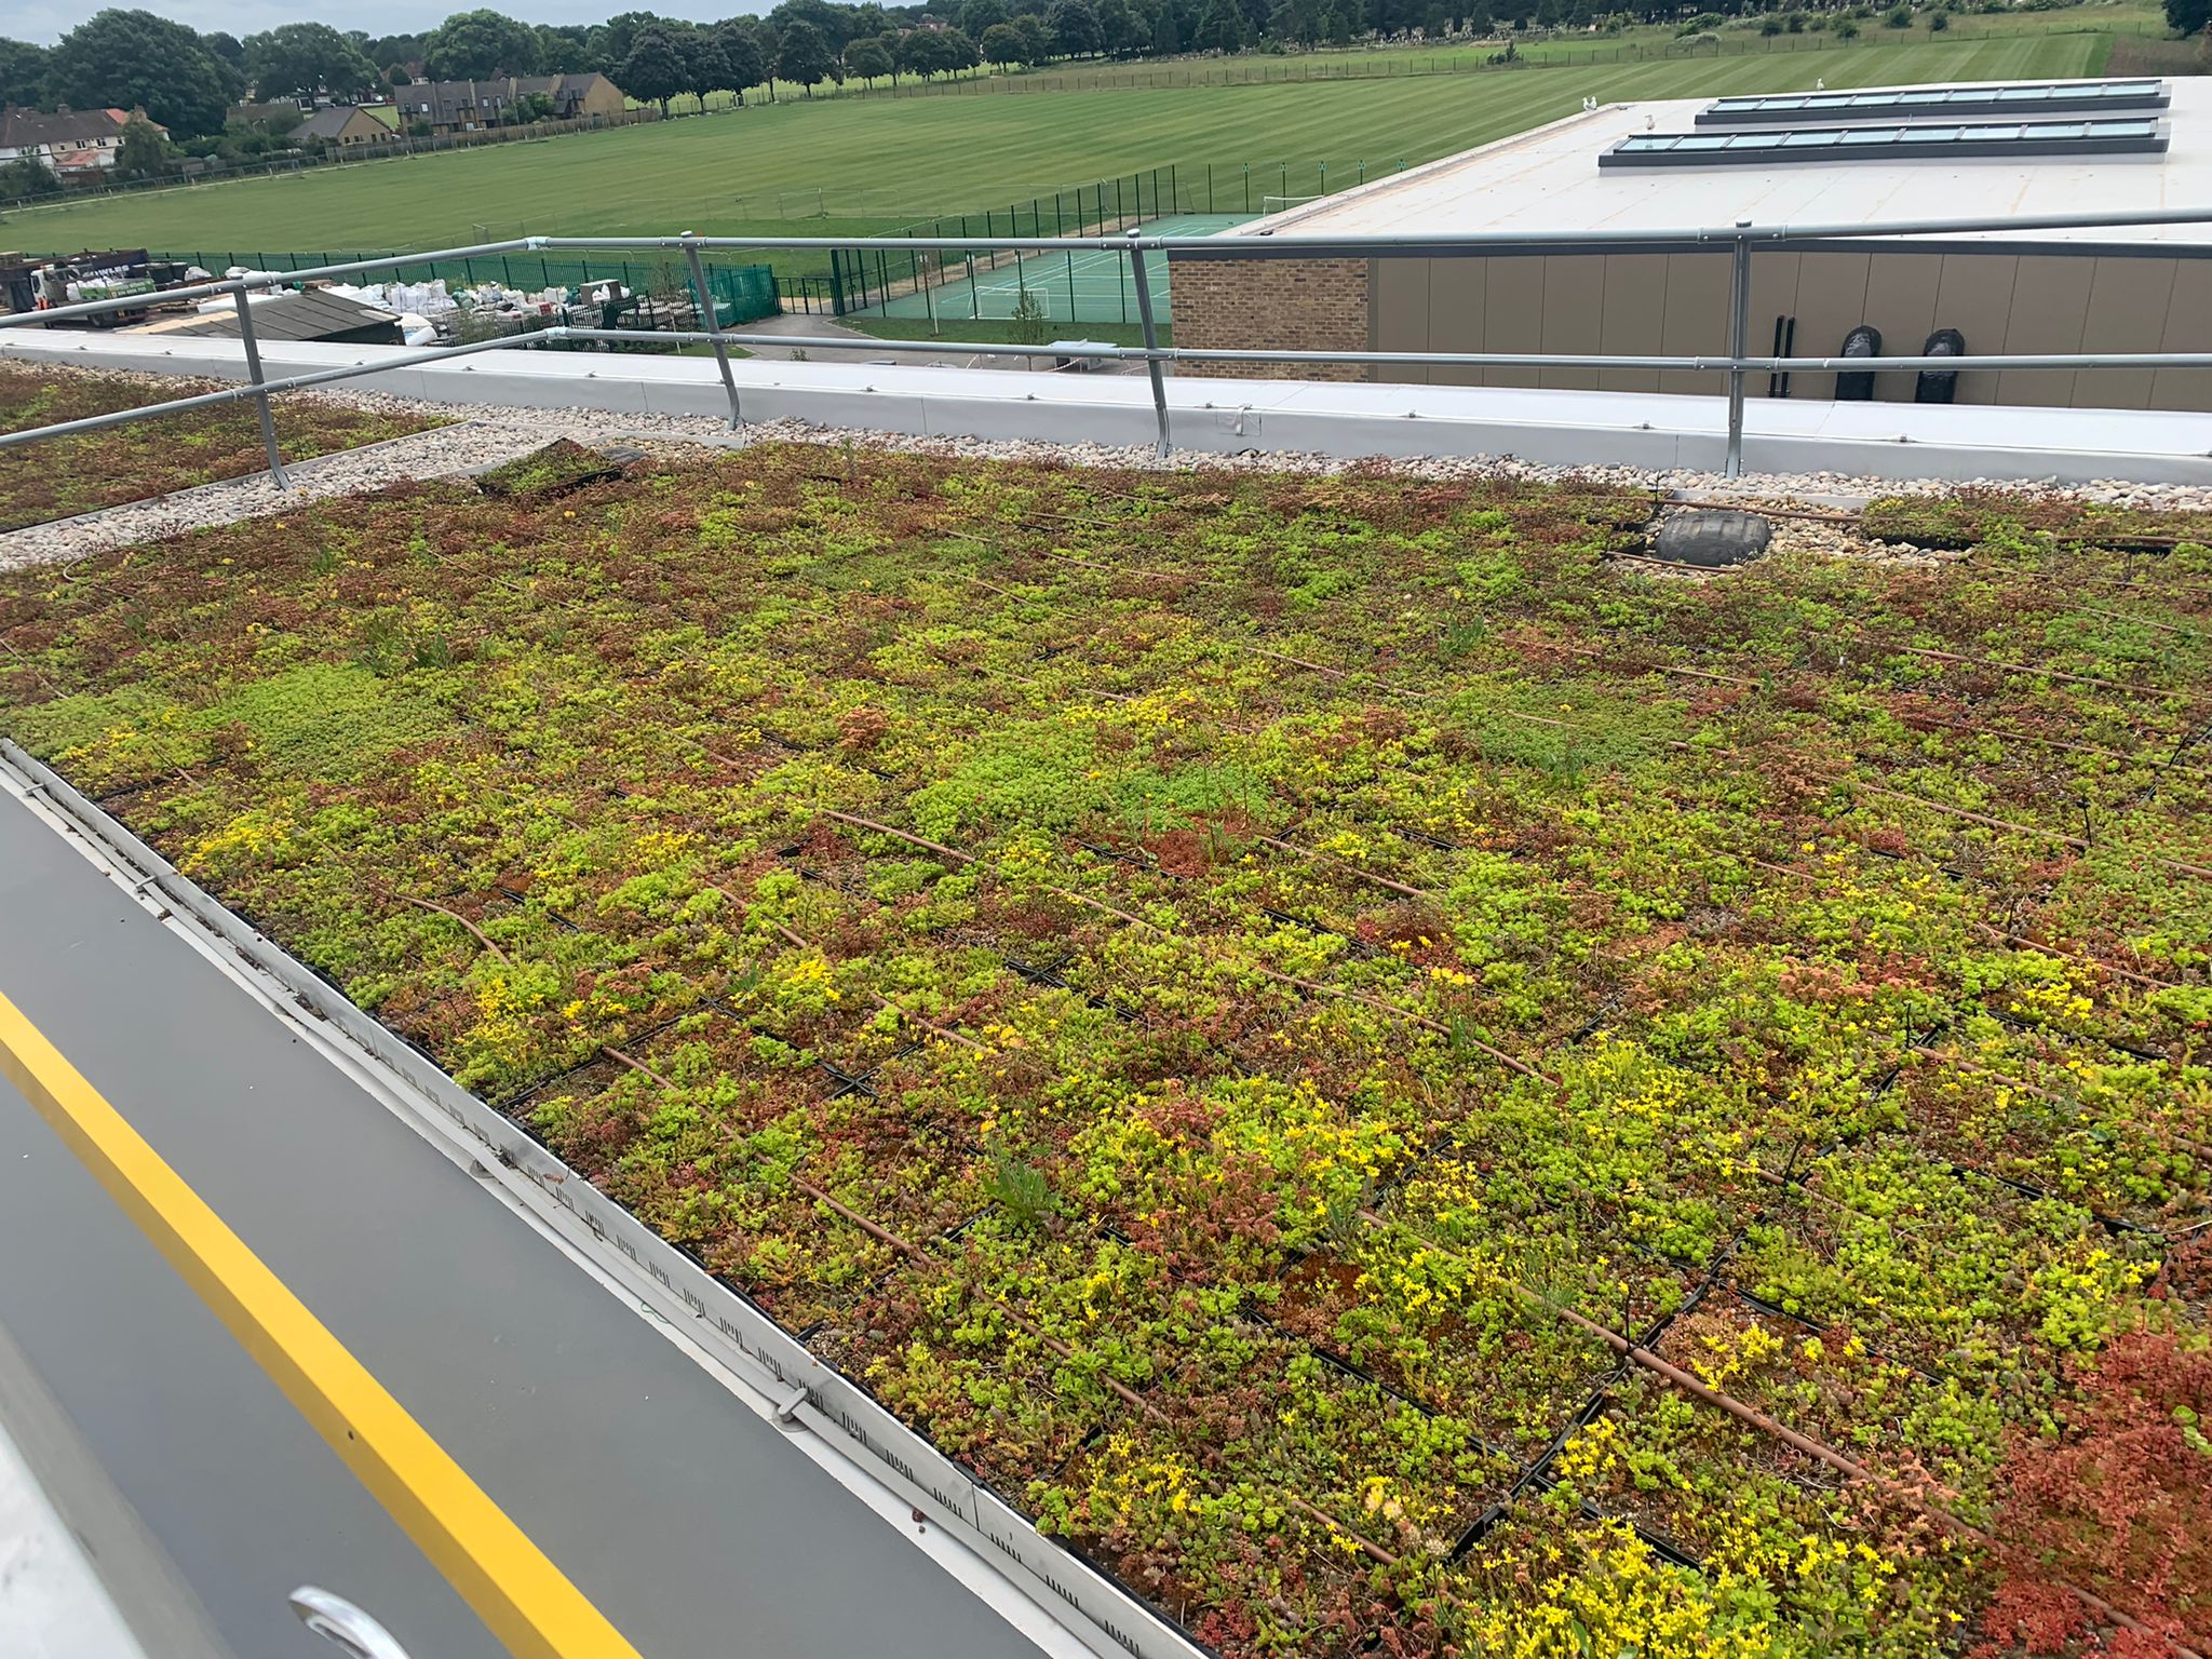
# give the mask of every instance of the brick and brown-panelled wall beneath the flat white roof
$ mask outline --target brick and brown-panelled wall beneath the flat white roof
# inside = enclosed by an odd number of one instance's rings
[[[1887,265],[1887,270],[1885,270]],[[1186,281],[1188,276],[1188,281]],[[1374,261],[1179,261],[1183,345],[1356,347],[1385,352],[1571,352],[1717,356],[1728,345],[1725,252],[1493,254]],[[1754,254],[1747,338],[1774,345],[1774,319],[1796,319],[1794,356],[1834,356],[1858,323],[1882,349],[1918,352],[1936,327],[1969,354],[2212,352],[2212,259],[2011,252]],[[1183,365],[1183,374],[1208,372]],[[1214,372],[1237,372],[1225,365]],[[1712,396],[1717,374],[1652,369],[1478,369],[1407,365],[1305,372],[1436,385],[1586,387]],[[1767,376],[1747,376],[1752,396]],[[1827,398],[1829,374],[1798,374],[1796,398]],[[1911,374],[1880,380],[1885,400],[1913,396]],[[1966,372],[1960,403],[2212,409],[2212,369]]]

